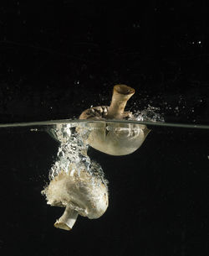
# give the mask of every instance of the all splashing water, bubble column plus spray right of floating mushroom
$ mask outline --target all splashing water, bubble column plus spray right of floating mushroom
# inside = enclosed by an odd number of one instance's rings
[[[131,114],[129,120],[164,122],[164,118],[159,112],[160,108],[148,105],[144,110]],[[57,160],[49,171],[49,180],[54,180],[62,170],[68,173],[69,169],[72,170],[73,168],[73,171],[78,172],[78,174],[81,170],[86,170],[93,177],[99,177],[104,184],[107,185],[108,182],[104,179],[104,171],[101,166],[94,160],[91,160],[87,154],[89,148],[87,144],[89,133],[91,133],[93,129],[97,129],[97,126],[98,125],[94,125],[91,127],[86,123],[65,123],[57,124],[54,128],[50,128],[49,133],[59,141],[60,145]],[[112,126],[114,126],[115,132],[117,132],[115,124]],[[106,128],[110,129],[112,126],[109,125],[106,126]],[[129,132],[135,131],[132,126],[126,128],[126,130],[128,129]]]

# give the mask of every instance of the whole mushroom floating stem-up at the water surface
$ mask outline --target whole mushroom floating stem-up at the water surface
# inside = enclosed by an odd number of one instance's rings
[[[125,112],[125,106],[134,93],[135,89],[130,86],[116,85],[110,107],[91,107],[81,113],[79,119],[104,121],[87,124],[89,134],[87,138],[84,138],[86,144],[105,154],[112,155],[131,154],[140,148],[146,135],[150,132],[150,129],[144,124],[108,122],[110,119],[133,118],[132,112]],[[84,133],[83,130],[84,127],[80,124],[77,131]]]

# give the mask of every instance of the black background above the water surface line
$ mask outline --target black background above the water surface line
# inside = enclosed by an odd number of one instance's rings
[[[78,117],[126,83],[137,110],[208,123],[206,3],[1,1],[1,122]]]

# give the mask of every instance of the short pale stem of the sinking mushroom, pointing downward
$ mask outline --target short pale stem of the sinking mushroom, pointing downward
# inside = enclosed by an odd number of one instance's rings
[[[54,227],[64,230],[71,230],[74,227],[74,223],[79,215],[79,212],[72,210],[69,206],[66,206],[64,214],[54,223]]]

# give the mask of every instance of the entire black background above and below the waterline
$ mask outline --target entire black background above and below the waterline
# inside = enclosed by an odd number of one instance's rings
[[[206,1],[1,1],[1,123],[76,118],[109,105],[115,83],[135,88],[128,107],[208,123],[208,33]],[[40,195],[58,144],[28,128],[0,135],[3,255],[208,255],[206,130],[153,128],[126,157],[90,149],[110,206],[72,232]]]

